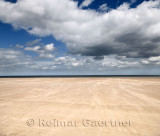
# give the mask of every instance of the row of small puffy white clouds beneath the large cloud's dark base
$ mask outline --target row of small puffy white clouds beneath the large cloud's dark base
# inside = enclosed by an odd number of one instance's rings
[[[95,57],[86,57],[86,56],[65,56],[55,58],[54,64],[56,64],[57,68],[65,68],[65,69],[73,69],[77,68],[80,70],[97,70],[97,71],[105,71],[105,70],[119,70],[119,69],[130,69],[130,68],[144,68],[150,66],[159,66],[160,61],[156,58],[156,61],[150,61],[149,58],[126,58],[125,56],[116,56],[109,55],[104,56],[103,59],[99,59],[95,61]]]

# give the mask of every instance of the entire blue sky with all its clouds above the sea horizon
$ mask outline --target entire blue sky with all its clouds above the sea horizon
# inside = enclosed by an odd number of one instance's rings
[[[0,76],[160,75],[160,0],[0,0]]]

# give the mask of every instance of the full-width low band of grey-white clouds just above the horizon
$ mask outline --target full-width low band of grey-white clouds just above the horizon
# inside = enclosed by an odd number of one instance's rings
[[[47,54],[45,55],[47,56]],[[45,58],[46,56],[41,57]],[[44,71],[45,74],[47,74],[49,71],[54,72],[61,70],[69,70],[74,73],[75,70],[77,70],[79,74],[83,74],[83,71],[90,73],[92,70],[105,72],[127,68],[160,66],[160,56],[141,58],[138,61],[136,58],[126,58],[125,56],[116,55],[104,56],[103,59],[99,58],[98,61],[95,61],[94,57],[73,55],[64,57],[48,55],[47,58],[52,58],[52,60],[35,59],[34,57],[24,54],[22,50],[0,49],[0,73],[6,72],[6,74],[8,74],[8,72],[18,72],[18,74],[22,74],[22,71],[38,71],[38,74],[41,74],[41,72]]]

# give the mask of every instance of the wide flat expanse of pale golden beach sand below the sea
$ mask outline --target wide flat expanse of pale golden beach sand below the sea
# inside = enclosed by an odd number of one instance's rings
[[[1,78],[0,136],[160,136],[160,78]]]

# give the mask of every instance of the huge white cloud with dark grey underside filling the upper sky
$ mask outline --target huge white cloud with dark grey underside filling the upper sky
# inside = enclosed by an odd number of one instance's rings
[[[159,56],[159,16],[158,0],[136,8],[124,3],[107,13],[80,9],[72,0],[0,1],[1,21],[31,34],[53,35],[66,43],[69,53],[84,56]]]

